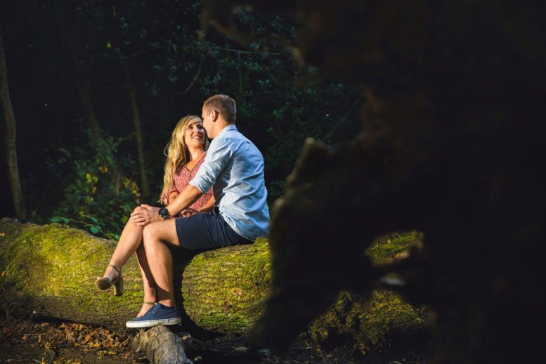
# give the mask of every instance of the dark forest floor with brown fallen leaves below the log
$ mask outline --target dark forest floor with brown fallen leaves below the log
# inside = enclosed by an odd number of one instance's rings
[[[431,348],[384,350],[363,356],[349,344],[321,351],[299,340],[282,356],[249,349],[241,336],[197,339],[178,333],[195,364],[426,364]],[[0,363],[147,363],[130,337],[79,323],[0,318]]]

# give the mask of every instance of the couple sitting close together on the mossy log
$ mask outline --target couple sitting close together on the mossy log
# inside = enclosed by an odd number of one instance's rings
[[[214,138],[210,145],[207,134]],[[122,266],[136,252],[144,302],[127,327],[181,322],[172,247],[203,252],[252,244],[268,234],[264,157],[235,127],[235,100],[226,95],[205,100],[202,118],[183,117],[168,148],[161,193],[166,207],[134,209],[104,276],[95,282],[99,290],[113,285],[115,294],[122,294]]]

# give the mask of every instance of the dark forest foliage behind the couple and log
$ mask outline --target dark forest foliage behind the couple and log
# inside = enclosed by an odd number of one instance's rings
[[[334,145],[360,129],[358,86],[297,65],[290,53],[294,26],[279,15],[240,8],[235,27],[257,39],[243,45],[212,30],[202,34],[201,1],[4,1],[0,7],[28,221],[64,221],[117,238],[135,204],[157,200],[163,148],[178,119],[200,115],[214,93],[235,98],[238,129],[264,154],[270,204],[306,137]],[[150,196],[139,188],[122,63],[136,89]],[[85,122],[77,79],[89,86],[99,138]],[[11,216],[5,158],[0,163],[0,216]]]

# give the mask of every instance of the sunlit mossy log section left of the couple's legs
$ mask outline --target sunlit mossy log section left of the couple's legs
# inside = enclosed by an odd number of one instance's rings
[[[125,292],[98,292],[115,243],[58,223],[38,226],[0,221],[0,307],[15,316],[47,316],[114,330],[138,312],[140,272],[134,258],[124,267]]]

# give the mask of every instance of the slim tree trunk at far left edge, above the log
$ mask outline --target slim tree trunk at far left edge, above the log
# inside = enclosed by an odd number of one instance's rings
[[[11,107],[11,99],[8,88],[8,70],[6,64],[6,54],[4,53],[4,41],[2,40],[2,30],[0,27],[0,106],[3,119],[6,121],[6,159],[8,165],[8,178],[11,187],[11,198],[13,200],[13,210],[18,219],[22,219],[22,190],[19,178],[19,167],[17,163],[16,148],[16,125],[15,115]]]

